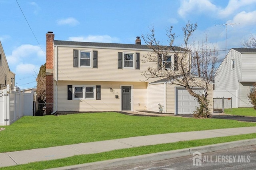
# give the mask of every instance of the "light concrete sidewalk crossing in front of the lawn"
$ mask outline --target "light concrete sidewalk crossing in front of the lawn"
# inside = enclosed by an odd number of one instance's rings
[[[80,143],[74,145],[64,145],[42,149],[6,152],[0,153],[0,167],[26,164],[43,160],[60,159],[80,154],[106,152],[116,149],[126,149],[146,145],[157,145],[163,143],[174,143],[178,141],[226,137],[250,133],[256,133],[256,127],[239,127],[205,131],[167,133],[90,143]]]

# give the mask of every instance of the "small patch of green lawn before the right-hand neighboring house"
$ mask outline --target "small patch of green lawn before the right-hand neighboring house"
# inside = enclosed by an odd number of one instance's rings
[[[256,110],[254,110],[253,107],[240,107],[240,108],[224,109],[224,113],[226,113],[228,115],[256,117]]]

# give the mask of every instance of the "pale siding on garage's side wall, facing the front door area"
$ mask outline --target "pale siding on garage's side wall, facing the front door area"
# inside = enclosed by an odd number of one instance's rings
[[[159,112],[158,104],[164,106],[165,110],[165,84],[152,84],[148,86],[147,110]]]

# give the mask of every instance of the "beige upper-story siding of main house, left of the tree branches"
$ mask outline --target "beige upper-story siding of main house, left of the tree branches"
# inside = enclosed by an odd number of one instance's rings
[[[57,48],[57,47],[55,47]],[[73,50],[98,51],[98,68],[73,67]],[[55,50],[56,52],[56,50]],[[140,53],[140,70],[135,68],[118,69],[118,52]],[[143,55],[148,51],[120,50],[120,49],[94,49],[76,47],[58,47],[58,80],[90,80],[90,81],[130,81],[146,80],[142,71],[148,66],[157,67],[157,63],[142,63]],[[78,62],[79,63],[79,62]],[[134,63],[135,66],[135,63]]]

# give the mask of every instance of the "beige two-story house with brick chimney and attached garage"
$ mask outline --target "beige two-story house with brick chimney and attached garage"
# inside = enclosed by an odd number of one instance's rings
[[[139,37],[135,42],[58,41],[52,32],[46,33],[47,112],[158,112],[160,104],[165,113],[193,113],[197,101],[185,88],[169,84],[166,79],[147,80],[142,75],[149,66],[157,68],[158,63],[142,62],[152,50],[141,45]],[[170,58],[164,61],[172,68],[174,54],[170,52]],[[209,94],[212,98],[212,91]]]

